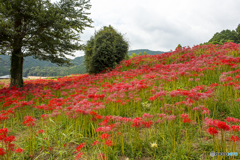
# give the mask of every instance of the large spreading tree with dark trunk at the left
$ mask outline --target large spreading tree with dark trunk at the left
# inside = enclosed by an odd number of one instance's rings
[[[0,53],[11,55],[11,85],[23,87],[23,60],[33,56],[71,65],[66,55],[83,49],[90,0],[0,0]]]

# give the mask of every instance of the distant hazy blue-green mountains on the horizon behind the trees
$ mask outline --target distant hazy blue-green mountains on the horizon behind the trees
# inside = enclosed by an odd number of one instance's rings
[[[132,53],[139,54],[139,52],[144,54],[145,51],[147,52],[147,54],[150,55],[165,53],[162,51],[151,51],[149,49],[138,49],[128,51],[128,55],[131,56]],[[31,56],[24,57],[23,76],[65,76],[68,74],[83,74],[86,73],[85,65],[83,62],[84,56],[76,57],[72,60],[74,66],[59,67],[58,65],[53,64],[50,61],[41,61],[38,59],[34,59]],[[10,56],[0,55],[0,76],[10,74],[10,65]]]

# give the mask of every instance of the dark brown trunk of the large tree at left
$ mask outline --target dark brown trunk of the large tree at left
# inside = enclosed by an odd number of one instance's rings
[[[10,87],[23,87],[23,53],[22,53],[22,18],[19,15],[15,16],[14,29],[17,34],[14,35],[13,51],[11,56],[11,84]]]

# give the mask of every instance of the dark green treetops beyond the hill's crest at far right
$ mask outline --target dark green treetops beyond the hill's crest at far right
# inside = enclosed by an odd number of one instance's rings
[[[208,41],[212,44],[224,44],[225,42],[240,43],[239,35],[234,30],[223,30],[220,33],[215,33],[214,36]]]

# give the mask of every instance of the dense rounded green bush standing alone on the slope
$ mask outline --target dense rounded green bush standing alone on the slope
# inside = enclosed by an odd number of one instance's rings
[[[90,74],[112,69],[127,58],[128,42],[112,26],[104,26],[87,41],[85,47],[86,71]]]

